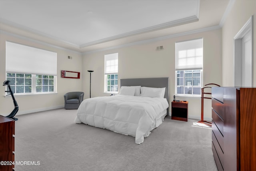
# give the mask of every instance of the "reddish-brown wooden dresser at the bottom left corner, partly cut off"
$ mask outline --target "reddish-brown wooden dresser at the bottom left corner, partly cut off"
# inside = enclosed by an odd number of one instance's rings
[[[15,121],[0,115],[0,171],[14,170],[14,134]]]

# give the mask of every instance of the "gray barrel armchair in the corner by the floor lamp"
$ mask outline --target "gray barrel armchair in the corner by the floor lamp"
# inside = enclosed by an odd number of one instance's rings
[[[84,100],[84,92],[74,91],[64,94],[65,109],[78,109]]]

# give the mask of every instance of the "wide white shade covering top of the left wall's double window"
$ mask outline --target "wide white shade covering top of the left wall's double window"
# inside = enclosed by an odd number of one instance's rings
[[[6,42],[6,73],[57,76],[57,53]]]

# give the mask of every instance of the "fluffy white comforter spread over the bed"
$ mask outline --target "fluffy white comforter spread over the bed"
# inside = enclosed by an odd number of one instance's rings
[[[112,95],[85,99],[80,104],[75,123],[85,123],[95,127],[135,137],[135,143],[143,143],[164,118],[169,107],[164,98]],[[164,115],[164,116],[163,116]],[[157,122],[158,121],[158,122]]]

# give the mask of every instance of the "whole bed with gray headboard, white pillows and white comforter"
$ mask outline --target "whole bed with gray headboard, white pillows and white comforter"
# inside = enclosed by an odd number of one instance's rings
[[[120,79],[120,87],[118,95],[82,101],[74,122],[131,135],[135,143],[143,143],[168,114],[169,78]]]

